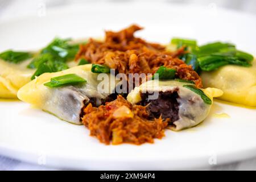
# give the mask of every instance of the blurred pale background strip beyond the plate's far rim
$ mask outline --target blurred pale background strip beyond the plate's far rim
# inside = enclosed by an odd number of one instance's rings
[[[150,3],[153,0],[139,0]],[[16,18],[17,16],[35,15],[39,9],[51,9],[57,6],[71,5],[75,3],[129,3],[135,0],[0,0],[0,20]],[[138,0],[136,1],[138,2]],[[185,3],[192,5],[223,7],[226,9],[245,11],[256,14],[255,0],[159,0],[163,3]]]

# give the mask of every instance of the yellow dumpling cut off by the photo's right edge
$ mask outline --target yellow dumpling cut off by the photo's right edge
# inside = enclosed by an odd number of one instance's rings
[[[221,89],[221,100],[256,106],[256,60],[252,67],[225,65],[212,72],[201,73],[203,85]]]

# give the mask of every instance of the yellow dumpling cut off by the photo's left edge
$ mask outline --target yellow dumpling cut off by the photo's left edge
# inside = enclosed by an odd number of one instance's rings
[[[0,98],[16,98],[19,88],[31,80],[35,69],[27,68],[30,61],[13,64],[0,59]]]

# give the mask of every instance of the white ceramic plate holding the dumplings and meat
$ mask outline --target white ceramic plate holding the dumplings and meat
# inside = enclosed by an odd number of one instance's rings
[[[46,16],[0,23],[0,51],[37,49],[54,36],[103,36],[131,23],[147,40],[172,36],[199,43],[230,41],[256,55],[256,18],[210,7],[164,4],[73,5]],[[216,113],[230,117],[218,118]],[[106,146],[76,126],[20,101],[0,102],[0,154],[31,163],[79,169],[192,169],[256,156],[256,110],[214,102],[207,119],[192,129],[166,131],[154,144]]]

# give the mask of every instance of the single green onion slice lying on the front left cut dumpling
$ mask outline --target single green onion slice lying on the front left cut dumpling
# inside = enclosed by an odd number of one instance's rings
[[[53,77],[51,78],[50,82],[47,82],[44,85],[54,88],[54,87],[59,87],[63,85],[79,84],[82,82],[86,82],[86,80],[84,78],[81,78],[80,76],[77,76],[76,74],[68,74],[68,75]]]

